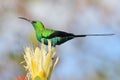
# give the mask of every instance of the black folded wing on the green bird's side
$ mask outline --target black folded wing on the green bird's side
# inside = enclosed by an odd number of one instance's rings
[[[74,36],[72,33],[67,33],[63,31],[54,31],[51,33],[47,38],[53,38],[53,37],[67,37],[67,36]]]

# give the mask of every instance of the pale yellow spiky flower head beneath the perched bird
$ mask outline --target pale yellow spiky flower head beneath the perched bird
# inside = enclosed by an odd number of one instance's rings
[[[47,49],[47,50],[46,50]],[[27,47],[25,49],[24,59],[25,68],[28,71],[28,80],[50,80],[51,73],[59,58],[54,57],[55,48],[48,41],[48,47],[42,43],[41,48],[35,50]]]

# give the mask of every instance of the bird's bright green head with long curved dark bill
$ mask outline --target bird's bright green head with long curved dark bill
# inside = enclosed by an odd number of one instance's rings
[[[40,31],[40,30],[44,29],[44,25],[43,25],[43,23],[41,21],[32,21],[32,20],[29,20],[29,19],[24,18],[24,17],[19,17],[19,18],[30,22],[33,25],[35,31],[36,30]]]

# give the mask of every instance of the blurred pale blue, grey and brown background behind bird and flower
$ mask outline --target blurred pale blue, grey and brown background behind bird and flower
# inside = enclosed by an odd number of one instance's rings
[[[0,0],[0,80],[25,75],[24,48],[40,45],[20,16],[74,34],[116,34],[57,46],[51,80],[120,80],[120,0]]]

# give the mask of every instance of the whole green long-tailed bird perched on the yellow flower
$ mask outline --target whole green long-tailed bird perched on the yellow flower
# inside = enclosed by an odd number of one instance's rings
[[[44,44],[48,44],[48,39],[51,41],[52,46],[60,45],[66,41],[69,41],[73,38],[77,37],[86,37],[86,36],[110,36],[114,34],[84,34],[84,35],[74,35],[72,33],[67,33],[63,31],[53,30],[45,28],[41,21],[31,21],[24,17],[19,17],[20,19],[24,19],[30,22],[34,30],[36,32],[36,37],[39,42],[44,42]]]

